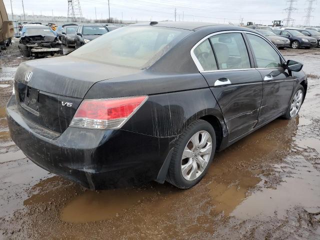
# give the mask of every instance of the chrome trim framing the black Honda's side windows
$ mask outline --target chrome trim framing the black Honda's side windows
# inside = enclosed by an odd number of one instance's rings
[[[273,44],[270,44],[270,42],[264,37],[264,36],[261,36],[255,32],[251,32],[251,31],[245,31],[245,30],[227,30],[227,31],[218,31],[218,32],[214,32],[214,33],[210,33],[208,35],[206,35],[205,37],[203,37],[201,40],[199,40],[197,43],[195,43],[195,45],[191,48],[190,50],[190,55],[191,55],[191,58],[194,62],[194,64],[196,65],[196,67],[198,68],[198,71],[201,72],[201,73],[204,73],[204,72],[219,72],[219,71],[239,71],[239,70],[252,70],[252,69],[278,69],[278,68],[282,68],[282,67],[260,67],[260,68],[256,68],[256,67],[251,67],[251,68],[236,68],[236,69],[218,69],[218,70],[204,70],[203,67],[201,66],[199,60],[197,59],[197,57],[195,56],[194,54],[194,49],[200,45],[203,41],[205,41],[206,39],[208,39],[209,37],[211,36],[214,36],[214,35],[219,35],[219,34],[223,34],[223,33],[249,33],[249,34],[252,34],[252,35],[256,35],[256,36],[259,36],[261,37],[262,39],[264,39],[271,47],[273,47],[273,49],[276,51],[276,53],[281,57],[281,59],[285,62],[285,59],[283,58],[283,56],[281,55],[281,53],[279,52],[279,50],[273,46]],[[247,49],[249,50],[249,49]],[[282,68],[283,69],[283,68]]]

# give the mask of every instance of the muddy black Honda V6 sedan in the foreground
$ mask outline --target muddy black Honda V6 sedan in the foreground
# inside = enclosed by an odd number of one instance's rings
[[[301,68],[248,28],[136,24],[21,63],[7,120],[35,164],[87,188],[188,188],[215,151],[298,114]]]

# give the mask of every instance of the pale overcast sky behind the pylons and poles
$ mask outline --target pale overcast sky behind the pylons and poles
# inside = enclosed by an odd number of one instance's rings
[[[10,0],[3,0],[7,13],[11,13]],[[95,19],[108,17],[107,0],[79,0],[82,15]],[[243,22],[271,24],[272,20],[282,20],[286,17],[283,10],[288,5],[286,0],[109,0],[110,16],[123,20],[174,20],[176,7],[176,20],[204,21],[238,24],[240,18]],[[55,16],[67,15],[67,0],[23,0],[26,14],[42,14]],[[297,0],[293,5],[297,8],[292,13],[294,24],[303,24],[305,0]],[[320,25],[320,2],[313,3],[314,11],[310,22]],[[53,9],[52,9],[53,8]],[[12,0],[13,14],[21,14],[21,0]]]

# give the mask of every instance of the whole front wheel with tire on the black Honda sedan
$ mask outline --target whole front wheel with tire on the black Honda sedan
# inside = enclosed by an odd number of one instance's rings
[[[297,116],[304,99],[304,94],[304,88],[299,84],[299,86],[297,86],[297,88],[295,89],[294,94],[291,96],[288,108],[286,109],[282,117],[284,117],[285,119],[291,119]]]

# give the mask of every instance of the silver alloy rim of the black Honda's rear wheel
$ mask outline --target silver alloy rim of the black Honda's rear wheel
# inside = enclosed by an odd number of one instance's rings
[[[185,180],[196,179],[205,170],[212,153],[212,138],[207,131],[196,132],[184,147],[181,172]]]

